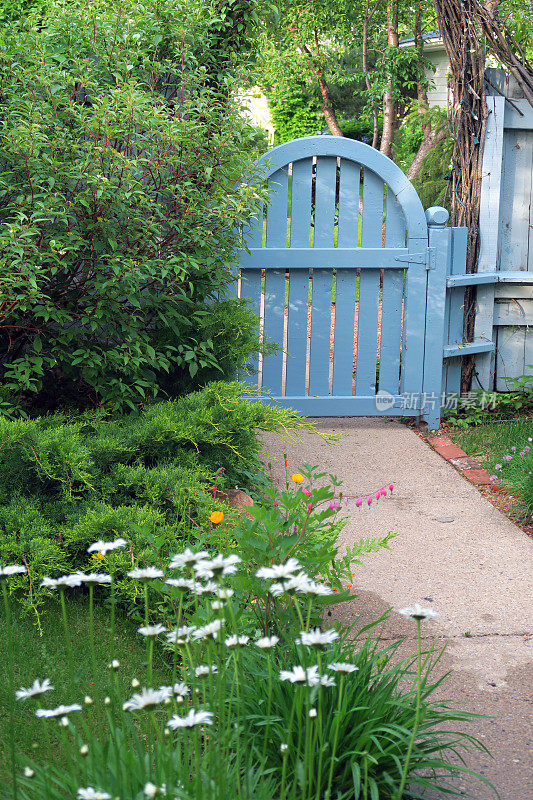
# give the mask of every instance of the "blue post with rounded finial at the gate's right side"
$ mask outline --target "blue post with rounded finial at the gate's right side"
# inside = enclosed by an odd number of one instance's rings
[[[429,430],[436,430],[440,425],[446,277],[451,258],[452,229],[446,228],[449,216],[441,206],[432,206],[426,211],[429,252],[422,417]]]

